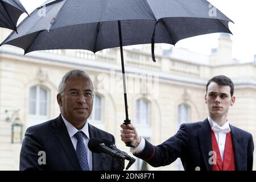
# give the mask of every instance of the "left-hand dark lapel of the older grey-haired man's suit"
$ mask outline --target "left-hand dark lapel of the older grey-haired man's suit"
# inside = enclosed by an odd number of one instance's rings
[[[53,132],[53,134],[61,143],[61,146],[63,147],[65,154],[67,154],[68,159],[70,160],[73,168],[76,171],[81,171],[79,160],[76,156],[75,148],[73,146],[71,138],[69,137],[67,127],[65,126],[65,123],[61,118],[61,115],[59,115],[59,117],[56,118],[56,120],[53,123],[53,127],[55,127],[55,131]]]

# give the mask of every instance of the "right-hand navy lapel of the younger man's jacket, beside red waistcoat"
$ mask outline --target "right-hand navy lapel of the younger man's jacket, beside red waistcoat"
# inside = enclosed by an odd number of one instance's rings
[[[242,171],[245,170],[245,164],[246,164],[246,156],[245,153],[246,150],[244,150],[244,142],[243,139],[236,129],[236,127],[229,125],[231,129],[231,135],[232,135],[232,141],[233,141],[233,147],[234,147],[234,155],[236,160],[236,170]]]

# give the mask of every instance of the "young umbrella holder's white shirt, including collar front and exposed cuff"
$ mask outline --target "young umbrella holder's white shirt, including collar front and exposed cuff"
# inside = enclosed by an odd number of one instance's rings
[[[210,127],[212,127],[213,132],[215,134],[215,137],[216,137],[216,140],[218,143],[218,148],[219,148],[220,154],[221,154],[221,159],[223,161],[223,156],[224,156],[224,151],[225,151],[225,142],[226,142],[226,133],[228,133],[230,131],[229,122],[227,120],[225,122],[225,124],[220,127],[210,117],[208,117],[208,121],[209,121]],[[214,131],[215,128],[218,131],[216,131],[216,130]],[[225,130],[225,131],[222,131],[222,130]],[[132,152],[133,154],[138,154],[139,152],[143,151],[143,149],[145,148],[145,145],[146,145],[145,139],[143,137],[141,137],[141,142],[138,144],[138,146],[136,148],[131,147],[130,152]]]

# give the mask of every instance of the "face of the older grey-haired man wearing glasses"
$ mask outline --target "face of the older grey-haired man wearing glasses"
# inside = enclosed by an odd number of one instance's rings
[[[93,94],[93,86],[85,77],[69,77],[64,93],[78,92],[79,96],[70,94],[57,95],[60,112],[67,121],[77,124],[85,122],[93,108],[93,98],[88,99],[83,94]]]

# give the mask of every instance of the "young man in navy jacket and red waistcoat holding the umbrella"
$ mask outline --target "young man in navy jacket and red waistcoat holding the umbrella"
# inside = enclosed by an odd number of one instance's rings
[[[121,125],[123,142],[133,141],[131,152],[154,167],[166,166],[181,158],[188,171],[251,171],[253,137],[229,124],[228,111],[236,98],[234,85],[226,76],[215,76],[206,87],[209,116],[203,122],[185,123],[158,146],[139,137],[133,125]]]

